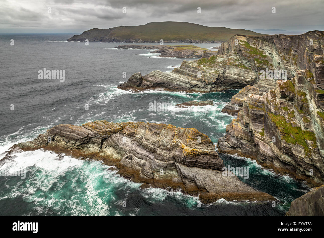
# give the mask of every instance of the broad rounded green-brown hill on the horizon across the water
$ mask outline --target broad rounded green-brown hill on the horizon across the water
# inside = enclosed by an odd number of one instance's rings
[[[250,30],[226,27],[206,27],[189,22],[151,22],[141,26],[113,27],[109,29],[93,28],[74,35],[68,41],[102,41],[102,42],[223,42],[235,34],[262,35]]]

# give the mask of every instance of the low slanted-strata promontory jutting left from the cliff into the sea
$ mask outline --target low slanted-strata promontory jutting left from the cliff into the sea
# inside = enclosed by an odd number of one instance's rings
[[[209,59],[183,61],[172,72],[156,70],[144,76],[135,73],[118,88],[133,92],[165,90],[208,93],[254,85],[257,79],[257,72],[242,66],[236,55],[213,55]]]

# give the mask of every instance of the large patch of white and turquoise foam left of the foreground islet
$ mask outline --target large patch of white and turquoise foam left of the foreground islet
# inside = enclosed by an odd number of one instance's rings
[[[99,161],[77,160],[66,155],[59,161],[57,154],[42,149],[14,155],[17,156],[15,163],[6,163],[1,169],[26,169],[28,174],[12,187],[10,194],[0,196],[0,200],[22,196],[27,202],[34,203],[36,209],[40,207],[39,212],[50,208],[62,212],[61,215],[66,212],[70,215],[109,215],[112,204],[115,204],[115,208],[119,207],[114,189],[122,187],[126,196],[133,189],[139,189],[140,184],[116,175],[115,171],[108,170],[109,166]],[[65,178],[71,175],[76,177]],[[98,184],[100,180],[106,185]],[[71,193],[71,189],[75,191],[72,197],[68,197],[68,194],[61,197],[63,193]],[[107,203],[108,200],[111,203]],[[80,202],[84,205],[80,206]]]

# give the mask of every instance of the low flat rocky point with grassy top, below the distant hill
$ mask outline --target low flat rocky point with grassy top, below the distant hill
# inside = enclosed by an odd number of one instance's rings
[[[217,51],[209,51],[194,45],[119,45],[117,49],[148,49],[151,53],[161,53],[158,57],[202,58],[204,55],[215,55]]]

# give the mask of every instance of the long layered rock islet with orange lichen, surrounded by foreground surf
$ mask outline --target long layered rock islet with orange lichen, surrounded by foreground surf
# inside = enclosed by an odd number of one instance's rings
[[[181,189],[199,194],[203,202],[220,198],[275,200],[244,184],[237,176],[223,176],[224,164],[214,144],[193,128],[144,122],[61,124],[33,141],[14,145],[2,160],[12,159],[12,154],[22,150],[41,148],[101,160],[115,165],[120,175],[143,183],[142,187]]]

